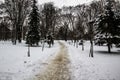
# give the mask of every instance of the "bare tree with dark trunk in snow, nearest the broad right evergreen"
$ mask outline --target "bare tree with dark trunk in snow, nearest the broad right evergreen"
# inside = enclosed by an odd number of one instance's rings
[[[92,2],[87,7],[88,34],[89,34],[89,40],[91,43],[89,57],[93,57],[93,40],[94,40],[94,36],[95,36],[94,21],[98,15],[98,12],[99,12],[98,10],[99,10],[99,7],[98,7],[97,2]]]

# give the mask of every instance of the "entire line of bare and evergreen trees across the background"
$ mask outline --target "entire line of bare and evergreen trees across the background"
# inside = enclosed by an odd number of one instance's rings
[[[21,42],[26,32],[27,42],[33,44],[38,44],[39,40],[46,39],[48,35],[74,42],[89,39],[90,56],[93,57],[93,41],[96,35],[105,36],[109,52],[111,38],[120,36],[120,2],[117,0],[99,0],[88,5],[62,8],[55,7],[51,2],[36,5],[35,0],[5,0],[1,7],[5,9],[4,13],[11,22],[8,27],[12,30],[13,44],[16,44],[16,40]],[[34,27],[36,29],[32,29]],[[36,41],[32,39],[33,34]]]

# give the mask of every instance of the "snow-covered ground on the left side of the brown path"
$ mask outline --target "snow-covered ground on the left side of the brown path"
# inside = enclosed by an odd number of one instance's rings
[[[11,42],[0,42],[0,80],[24,80],[32,77],[47,65],[47,62],[59,49],[55,42],[52,48],[46,45],[31,47],[31,57],[27,57],[28,47],[22,44],[12,45]]]

